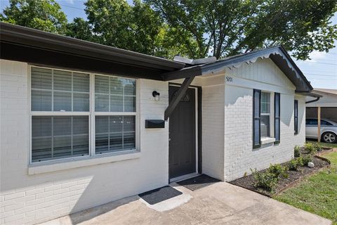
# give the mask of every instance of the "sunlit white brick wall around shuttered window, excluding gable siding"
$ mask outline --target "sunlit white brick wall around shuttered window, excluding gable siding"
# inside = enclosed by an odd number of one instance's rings
[[[281,94],[281,141],[253,149],[252,89],[225,87],[225,180],[250,174],[250,169],[265,169],[293,157],[297,144],[293,134],[293,96]],[[299,109],[300,110],[300,109]]]

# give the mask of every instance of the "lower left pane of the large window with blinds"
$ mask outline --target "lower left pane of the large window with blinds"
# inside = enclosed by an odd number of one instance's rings
[[[88,155],[88,116],[33,116],[32,162]]]

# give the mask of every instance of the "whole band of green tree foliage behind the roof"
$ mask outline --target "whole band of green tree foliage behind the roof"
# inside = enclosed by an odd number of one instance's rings
[[[282,44],[300,60],[337,39],[337,0],[87,0],[67,24],[55,0],[9,0],[0,20],[153,56],[223,58]]]

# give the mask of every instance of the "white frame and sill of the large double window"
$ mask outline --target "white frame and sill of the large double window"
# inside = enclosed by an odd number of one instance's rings
[[[46,68],[46,69],[53,69],[53,70],[62,70],[62,71],[67,71],[67,72],[80,72],[80,73],[86,73],[89,75],[89,85],[90,85],[90,92],[89,92],[89,112],[62,112],[62,111],[32,111],[32,96],[31,96],[31,91],[32,91],[32,67],[35,68]],[[29,167],[29,174],[37,174],[39,169],[37,169],[39,166],[48,168],[46,169],[46,172],[52,172],[56,170],[61,170],[63,167],[60,167],[59,169],[58,166],[56,165],[63,165],[65,163],[68,163],[70,165],[67,166],[67,168],[76,168],[76,167],[82,167],[86,165],[96,165],[96,164],[101,164],[105,162],[115,162],[119,160],[128,160],[128,159],[133,159],[133,158],[139,158],[140,155],[140,150],[139,149],[139,115],[138,115],[138,79],[133,79],[129,77],[122,77],[122,76],[117,76],[117,75],[101,75],[98,73],[92,73],[92,72],[84,72],[84,71],[78,71],[78,70],[64,70],[60,68],[50,68],[50,67],[43,67],[43,66],[36,66],[36,65],[28,65],[27,68],[28,72],[28,105],[29,105],[29,162],[28,162],[28,167]],[[126,79],[133,79],[136,81],[136,112],[95,112],[95,75],[100,75],[100,76],[107,76],[107,77],[120,77],[120,78],[126,78]],[[52,79],[53,82],[53,79]],[[53,89],[53,86],[52,86]],[[53,90],[52,90],[53,91]],[[124,105],[123,105],[124,107]],[[52,109],[53,109],[53,98],[52,98]],[[32,116],[56,116],[56,115],[67,115],[67,116],[77,116],[77,115],[88,115],[88,135],[89,135],[89,140],[88,140],[88,146],[89,146],[89,151],[88,155],[83,155],[83,156],[74,156],[74,157],[69,157],[69,158],[60,158],[60,159],[55,159],[55,160],[46,160],[46,161],[41,161],[41,162],[32,162]],[[95,115],[135,115],[135,132],[136,132],[136,140],[135,140],[135,145],[136,148],[134,149],[128,149],[128,150],[118,150],[115,152],[109,152],[109,153],[101,153],[101,154],[95,154]],[[132,153],[132,154],[131,154]],[[136,154],[136,155],[135,155]],[[128,155],[126,157],[121,157],[121,155]],[[131,156],[130,156],[131,155]],[[109,158],[109,160],[105,160],[102,158]],[[79,161],[90,161],[90,162],[81,162]],[[34,168],[34,169],[31,169]],[[44,172],[44,169],[41,170]]]

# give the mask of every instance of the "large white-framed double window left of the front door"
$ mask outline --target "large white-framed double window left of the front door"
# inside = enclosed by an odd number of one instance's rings
[[[135,149],[136,80],[32,67],[31,115],[32,162]]]

